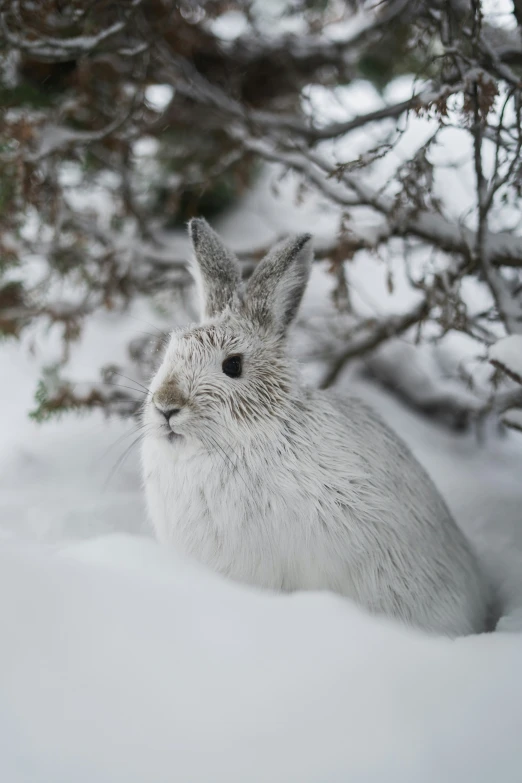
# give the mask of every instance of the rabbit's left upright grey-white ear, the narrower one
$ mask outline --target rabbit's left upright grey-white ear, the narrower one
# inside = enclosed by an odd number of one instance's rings
[[[214,318],[239,302],[239,264],[203,218],[190,221],[189,234],[194,248],[191,271],[199,290],[202,317]]]

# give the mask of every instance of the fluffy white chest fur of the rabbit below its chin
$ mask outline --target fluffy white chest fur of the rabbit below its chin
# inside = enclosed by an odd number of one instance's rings
[[[180,453],[147,480],[158,537],[214,570],[276,589],[324,582],[313,513],[296,484],[277,487],[266,460],[226,469],[216,455]],[[313,557],[312,557],[313,555]]]

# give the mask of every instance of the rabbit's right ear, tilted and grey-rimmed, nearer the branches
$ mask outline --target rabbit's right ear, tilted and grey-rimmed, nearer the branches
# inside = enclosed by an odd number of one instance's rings
[[[310,234],[301,234],[281,242],[254,270],[245,308],[262,326],[284,333],[295,318],[312,265],[310,240]]]

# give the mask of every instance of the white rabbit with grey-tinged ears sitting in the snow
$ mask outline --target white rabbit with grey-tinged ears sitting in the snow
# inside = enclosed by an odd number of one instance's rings
[[[287,334],[311,236],[274,247],[243,288],[210,226],[189,233],[201,321],[172,333],[144,409],[158,539],[239,582],[330,590],[432,633],[484,631],[488,588],[424,469],[362,400],[299,380]]]

